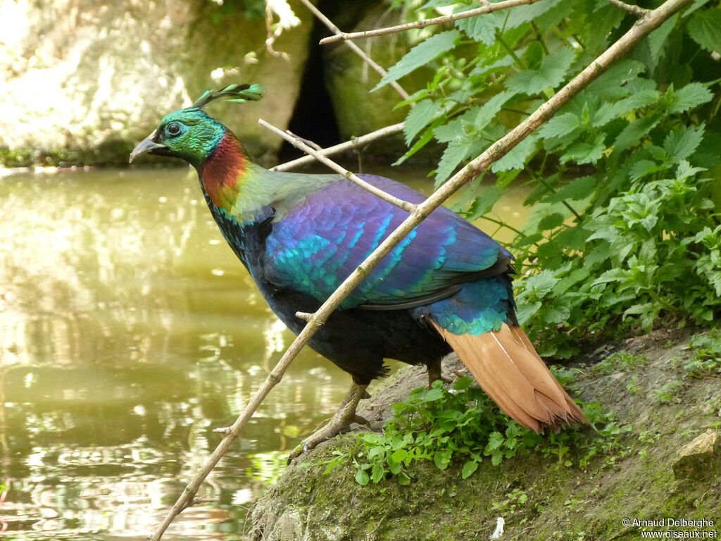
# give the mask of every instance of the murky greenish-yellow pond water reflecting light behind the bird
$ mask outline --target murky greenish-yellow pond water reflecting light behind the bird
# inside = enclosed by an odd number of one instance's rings
[[[430,190],[426,171],[370,169]],[[524,191],[503,219],[521,221]],[[0,538],[146,539],[292,339],[194,172],[0,178]],[[244,539],[249,504],[348,384],[306,348],[201,488],[211,503],[164,540]]]

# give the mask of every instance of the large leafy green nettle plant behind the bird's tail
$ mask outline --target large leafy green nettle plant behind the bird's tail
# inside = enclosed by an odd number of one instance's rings
[[[394,4],[409,19],[478,6]],[[530,185],[533,210],[509,248],[522,277],[519,319],[542,355],[565,358],[580,340],[651,330],[660,319],[708,325],[721,315],[721,9],[709,4],[665,22],[456,203],[468,219],[505,226],[495,203],[514,180]],[[397,163],[435,141],[441,185],[634,21],[603,0],[541,0],[420,31],[425,40],[376,87],[435,70],[399,104],[415,107]]]

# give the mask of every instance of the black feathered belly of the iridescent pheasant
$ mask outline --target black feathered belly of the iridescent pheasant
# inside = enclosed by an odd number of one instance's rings
[[[317,299],[306,294],[260,289],[275,315],[296,335],[306,324],[296,312],[315,312],[320,307]],[[336,310],[309,346],[362,385],[386,373],[384,359],[430,365],[451,352],[441,335],[409,310]]]

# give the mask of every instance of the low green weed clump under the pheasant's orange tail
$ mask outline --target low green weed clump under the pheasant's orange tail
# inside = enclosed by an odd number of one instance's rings
[[[361,485],[393,477],[401,485],[410,483],[412,465],[430,461],[440,470],[461,465],[466,479],[488,460],[499,465],[518,454],[538,452],[554,457],[567,467],[588,467],[593,457],[621,449],[620,436],[630,426],[618,426],[614,416],[597,404],[583,404],[593,431],[573,426],[558,434],[539,435],[510,420],[472,380],[461,378],[451,390],[435,382],[420,387],[392,407],[393,418],[382,434],[358,434],[357,445],[336,450],[327,463],[329,472],[337,465],[355,465],[355,480]],[[609,456],[606,463],[616,457]]]

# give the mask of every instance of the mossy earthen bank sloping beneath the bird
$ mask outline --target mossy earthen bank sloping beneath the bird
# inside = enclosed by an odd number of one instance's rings
[[[251,538],[487,540],[497,517],[503,540],[637,540],[642,530],[713,537],[721,522],[721,380],[689,369],[696,355],[689,337],[655,333],[615,348],[620,354],[590,356],[570,388],[615,413],[619,436],[584,467],[578,449],[562,459],[531,452],[498,466],[485,459],[466,480],[459,464],[438,470],[416,462],[410,485],[391,478],[361,486],[352,465],[324,473],[334,452],[357,445],[345,436],[286,470],[257,502]],[[448,375],[459,369],[444,364]],[[361,414],[378,428],[389,403],[424,382],[423,371],[402,371]],[[668,525],[669,518],[679,522]],[[663,526],[640,522],[651,520]]]

